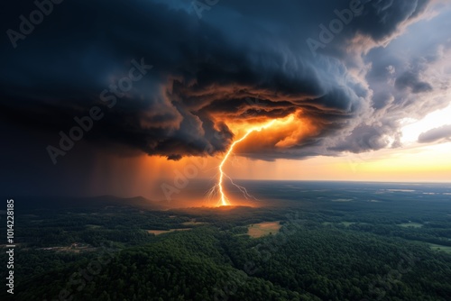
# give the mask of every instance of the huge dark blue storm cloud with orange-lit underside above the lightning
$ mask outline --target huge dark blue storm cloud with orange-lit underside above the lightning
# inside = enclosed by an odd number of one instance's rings
[[[87,115],[94,105],[105,117],[86,141],[170,160],[225,150],[233,134],[221,120],[298,111],[320,131],[290,150],[247,155],[271,160],[379,149],[382,138],[371,138],[370,128],[353,131],[355,120],[372,110],[372,92],[349,75],[344,49],[356,36],[374,43],[389,39],[428,1],[364,1],[363,13],[318,50],[323,55],[313,56],[306,40],[318,39],[318,25],[337,18],[334,11],[349,3],[223,1],[198,19],[191,1],[67,1],[17,41],[16,49],[4,36],[0,114],[46,138],[54,133],[53,140],[41,141],[42,150],[56,145],[58,132],[69,131],[74,117]],[[17,16],[32,9],[11,4],[2,28],[18,30]],[[102,91],[141,58],[152,70],[109,108]],[[413,93],[431,89],[414,74],[400,75],[397,87]],[[386,107],[389,97],[378,104]],[[334,134],[344,135],[341,142],[325,142]],[[353,137],[356,142],[349,141]]]

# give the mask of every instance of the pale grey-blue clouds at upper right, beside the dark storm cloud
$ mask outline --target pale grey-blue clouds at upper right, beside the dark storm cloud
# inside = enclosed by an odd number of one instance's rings
[[[364,151],[372,141],[379,141],[375,150],[400,147],[404,118],[421,119],[448,104],[443,94],[449,76],[441,65],[447,61],[451,42],[449,33],[439,29],[449,27],[451,20],[443,8],[437,10],[444,14],[411,24],[408,32],[364,56],[365,66],[371,67],[364,76],[373,94],[371,109],[354,127],[360,131],[345,132],[336,139],[338,150],[349,143],[354,145],[350,151]]]

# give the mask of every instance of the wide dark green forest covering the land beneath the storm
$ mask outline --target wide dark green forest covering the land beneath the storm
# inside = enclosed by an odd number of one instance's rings
[[[261,207],[23,205],[14,300],[451,299],[447,200],[323,194]],[[280,227],[250,235],[262,222]]]

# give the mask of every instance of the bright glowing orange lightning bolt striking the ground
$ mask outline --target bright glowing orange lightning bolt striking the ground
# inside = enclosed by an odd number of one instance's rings
[[[244,134],[243,137],[241,137],[237,141],[234,141],[230,145],[229,149],[226,152],[226,155],[224,156],[223,160],[221,161],[221,164],[219,164],[219,167],[218,167],[218,169],[219,169],[219,179],[217,181],[217,184],[216,184],[215,187],[211,188],[207,192],[207,196],[213,196],[218,191],[219,192],[219,196],[221,196],[220,199],[219,199],[218,204],[219,205],[230,205],[230,201],[228,200],[228,198],[226,196],[225,189],[223,187],[224,178],[229,178],[231,183],[243,193],[244,197],[246,197],[246,198],[253,197],[253,196],[251,196],[251,195],[249,195],[247,193],[246,188],[241,187],[239,185],[236,185],[234,183],[234,181],[232,180],[232,178],[230,178],[229,176],[226,175],[226,173],[224,172],[224,164],[226,164],[226,161],[228,160],[230,154],[234,151],[234,148],[235,148],[236,144],[238,144],[241,141],[244,141],[252,132],[261,132],[263,129],[267,129],[267,128],[271,127],[272,124],[275,123],[275,121],[276,120],[274,119],[271,122],[265,123],[265,124],[263,124],[261,126],[254,126],[254,127],[252,127],[251,129],[247,130],[247,132]],[[255,199],[255,197],[253,197],[253,198]]]

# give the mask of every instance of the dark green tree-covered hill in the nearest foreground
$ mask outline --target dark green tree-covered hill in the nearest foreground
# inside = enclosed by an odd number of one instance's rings
[[[451,283],[443,279],[451,275],[450,259],[418,244],[320,225],[286,223],[261,239],[204,226],[45,271],[23,283],[17,297],[449,300]]]

